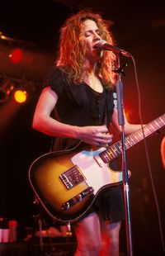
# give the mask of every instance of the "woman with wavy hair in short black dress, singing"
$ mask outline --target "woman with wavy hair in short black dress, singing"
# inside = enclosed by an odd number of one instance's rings
[[[60,32],[59,55],[35,108],[33,128],[54,138],[53,150],[70,149],[79,140],[99,147],[111,144],[110,124],[120,132],[113,104],[115,55],[94,49],[99,40],[114,44],[108,22],[81,11],[69,17]],[[125,120],[126,134],[140,127]],[[119,255],[124,217],[122,187],[101,192],[73,225],[78,240],[75,255]],[[101,248],[103,237],[106,246]]]

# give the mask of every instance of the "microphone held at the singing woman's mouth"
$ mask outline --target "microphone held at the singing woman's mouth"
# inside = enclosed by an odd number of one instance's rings
[[[99,50],[111,50],[116,54],[125,55],[126,57],[131,58],[131,55],[128,51],[122,50],[114,45],[110,45],[106,42],[106,40],[99,40],[97,44],[93,46],[93,48]]]

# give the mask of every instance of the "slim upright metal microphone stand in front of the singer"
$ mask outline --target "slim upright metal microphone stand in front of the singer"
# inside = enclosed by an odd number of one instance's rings
[[[123,67],[120,67],[120,57],[117,56],[117,73],[118,80],[116,83],[116,92],[117,92],[117,113],[118,113],[118,123],[121,127],[121,144],[122,144],[122,176],[123,176],[123,185],[124,185],[124,198],[125,198],[125,228],[126,228],[126,241],[127,241],[127,252],[129,256],[133,255],[132,252],[132,235],[130,227],[130,198],[129,198],[129,175],[126,164],[125,156],[125,117],[123,111],[123,84],[121,81],[121,74],[124,74]]]

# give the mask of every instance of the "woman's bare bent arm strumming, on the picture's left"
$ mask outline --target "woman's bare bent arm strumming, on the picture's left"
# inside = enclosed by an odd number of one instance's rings
[[[106,126],[70,126],[54,120],[50,114],[57,101],[58,95],[50,87],[44,88],[35,108],[32,125],[35,130],[40,130],[50,136],[83,140],[90,145],[111,143],[112,135],[106,134],[108,132]]]

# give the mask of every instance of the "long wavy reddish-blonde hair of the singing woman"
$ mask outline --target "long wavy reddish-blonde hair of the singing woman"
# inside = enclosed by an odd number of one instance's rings
[[[69,83],[80,84],[87,77],[84,69],[86,46],[82,40],[83,22],[92,20],[97,23],[102,40],[114,45],[113,36],[109,31],[110,21],[103,20],[100,14],[83,10],[69,17],[60,29],[59,55],[56,65],[60,66],[65,73]],[[113,66],[115,55],[111,51],[104,51],[97,63],[97,75],[107,88],[115,85],[115,73]]]

